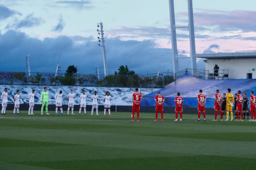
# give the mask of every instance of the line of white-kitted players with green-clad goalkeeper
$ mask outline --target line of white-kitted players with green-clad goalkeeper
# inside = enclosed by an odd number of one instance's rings
[[[2,99],[2,112],[1,115],[6,115],[6,107],[7,107],[7,102],[8,102],[8,89],[5,88],[4,92],[2,92],[1,99]],[[1,91],[0,91],[1,93]],[[72,115],[74,114],[74,98],[75,95],[73,94],[73,90],[70,90],[70,93],[67,95],[67,100],[69,101],[68,103],[68,108],[67,108],[67,115],[69,115],[69,110],[71,107],[72,110]],[[28,99],[29,99],[29,108],[28,108],[28,115],[35,115],[33,113],[33,108],[35,105],[35,90],[32,90],[30,94],[28,94]],[[56,115],[58,115],[58,108],[61,110],[61,114],[64,115],[63,110],[62,110],[62,91],[59,91],[58,94],[55,95],[55,100],[56,100]],[[82,111],[82,108],[84,109],[85,115],[86,113],[86,100],[87,100],[87,95],[85,94],[85,91],[83,91],[82,95],[80,95],[80,109],[79,109],[79,115]],[[111,101],[111,96],[109,92],[106,92],[106,96],[104,97],[104,102],[105,102],[105,109],[104,109],[104,115],[106,115],[106,109],[108,108],[108,113],[109,116],[111,116],[110,113],[110,101]],[[17,94],[14,96],[14,115],[17,110],[17,115],[20,115],[19,113],[19,108],[20,108],[20,91],[17,90]],[[44,88],[44,91],[41,93],[41,115],[43,115],[43,109],[45,107],[46,110],[46,115],[49,115],[48,113],[48,104],[49,104],[49,92],[47,91],[47,87]],[[92,95],[92,115],[93,115],[93,110],[96,110],[96,115],[98,115],[98,95],[97,92],[94,92],[94,95]]]

